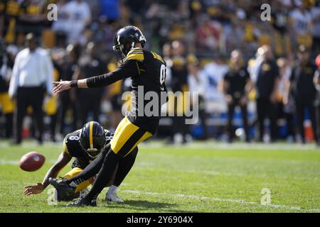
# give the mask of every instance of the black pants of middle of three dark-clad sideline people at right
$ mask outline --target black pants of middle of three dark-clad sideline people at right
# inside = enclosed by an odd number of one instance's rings
[[[259,136],[260,141],[263,140],[265,133],[265,118],[270,120],[270,135],[271,140],[277,139],[277,109],[276,105],[272,104],[267,99],[257,99],[257,118],[259,123]]]

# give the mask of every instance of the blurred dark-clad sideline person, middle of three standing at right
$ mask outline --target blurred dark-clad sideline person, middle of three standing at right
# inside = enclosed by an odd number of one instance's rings
[[[279,86],[279,68],[274,61],[274,55],[269,45],[258,50],[261,55],[260,65],[257,66],[255,89],[257,92],[257,118],[259,123],[260,141],[264,140],[265,118],[270,120],[271,141],[277,138],[276,106]]]

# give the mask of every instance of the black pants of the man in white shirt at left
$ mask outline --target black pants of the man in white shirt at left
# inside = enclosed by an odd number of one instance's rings
[[[23,118],[26,116],[28,106],[32,106],[33,115],[38,128],[38,141],[42,142],[43,135],[43,98],[45,89],[43,87],[19,87],[16,96],[16,111],[14,113],[14,131],[17,143],[22,140]]]

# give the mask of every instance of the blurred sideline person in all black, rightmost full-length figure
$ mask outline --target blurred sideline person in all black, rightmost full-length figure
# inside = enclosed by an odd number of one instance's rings
[[[314,132],[314,140],[319,143],[316,127],[316,87],[314,86],[316,66],[311,61],[309,50],[304,45],[299,46],[297,57],[298,65],[292,70],[290,89],[292,89],[297,108],[299,134],[302,136],[302,143],[305,143],[304,114],[307,109]]]

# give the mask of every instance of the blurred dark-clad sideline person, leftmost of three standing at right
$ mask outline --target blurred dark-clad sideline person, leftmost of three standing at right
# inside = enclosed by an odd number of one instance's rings
[[[228,134],[229,143],[233,142],[235,135],[233,127],[233,114],[235,107],[240,106],[242,125],[245,128],[245,140],[250,142],[249,125],[247,119],[247,94],[252,88],[250,75],[246,70],[242,53],[233,50],[230,56],[230,70],[223,77],[223,93],[228,104]]]

